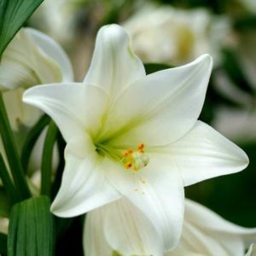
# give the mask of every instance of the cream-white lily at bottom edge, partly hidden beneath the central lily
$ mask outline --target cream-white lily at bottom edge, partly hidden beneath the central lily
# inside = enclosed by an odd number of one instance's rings
[[[256,229],[232,224],[190,200],[185,200],[182,236],[172,251],[161,250],[154,226],[124,199],[89,212],[84,226],[84,253],[90,256],[242,256],[252,241]],[[247,254],[253,256],[250,251],[253,247]]]

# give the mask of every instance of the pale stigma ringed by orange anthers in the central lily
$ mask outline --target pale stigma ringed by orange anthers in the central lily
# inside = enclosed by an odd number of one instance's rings
[[[144,154],[145,144],[140,143],[136,150],[127,149],[122,153],[122,162],[125,165],[125,169],[139,171],[143,167],[148,166],[149,158],[147,154]]]

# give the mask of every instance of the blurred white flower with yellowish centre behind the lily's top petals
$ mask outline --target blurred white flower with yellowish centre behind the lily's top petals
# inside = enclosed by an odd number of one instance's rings
[[[215,65],[220,49],[229,43],[230,21],[207,9],[146,7],[123,24],[131,44],[143,62],[183,64],[209,53]]]

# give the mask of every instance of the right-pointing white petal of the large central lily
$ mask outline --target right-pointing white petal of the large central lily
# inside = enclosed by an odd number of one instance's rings
[[[249,162],[241,148],[201,121],[169,148],[172,161],[182,172],[185,186],[240,172]]]

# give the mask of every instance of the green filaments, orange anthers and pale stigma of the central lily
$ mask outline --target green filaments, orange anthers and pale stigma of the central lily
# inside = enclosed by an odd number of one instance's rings
[[[126,149],[121,151],[117,148],[112,148],[104,144],[96,144],[96,151],[102,156],[108,156],[113,160],[118,160],[123,163],[126,170],[139,171],[143,167],[148,166],[149,158],[144,153],[145,144],[140,143],[136,149]]]

